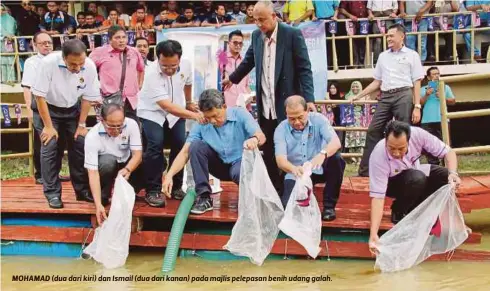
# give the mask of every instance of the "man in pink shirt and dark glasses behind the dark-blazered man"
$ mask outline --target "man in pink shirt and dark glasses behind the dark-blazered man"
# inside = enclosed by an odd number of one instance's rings
[[[228,36],[228,47],[230,48],[227,52],[228,62],[225,67],[225,77],[230,76],[238,65],[242,62],[242,56],[240,52],[243,48],[243,34],[240,30],[234,30],[230,32]],[[221,68],[222,69],[222,68]],[[242,81],[238,84],[233,84],[230,89],[225,91],[225,102],[226,106],[234,107],[237,105],[237,99],[240,94],[250,93],[250,77],[245,76]]]

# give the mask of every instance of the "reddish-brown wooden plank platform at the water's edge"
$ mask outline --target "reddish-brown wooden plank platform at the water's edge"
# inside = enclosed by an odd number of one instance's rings
[[[315,195],[322,207],[322,185],[315,188]],[[233,183],[222,183],[221,207],[203,215],[190,215],[189,220],[228,223],[232,224],[238,217],[238,187]],[[70,183],[63,183],[62,200],[63,209],[51,209],[42,193],[42,186],[35,185],[33,179],[23,178],[17,180],[2,181],[1,212],[2,214],[58,214],[63,215],[91,215],[92,221],[95,208],[93,204],[79,202],[75,199],[74,191]],[[370,198],[369,184],[366,178],[346,177],[342,185],[342,191],[337,204],[337,219],[332,222],[323,222],[324,232],[343,230],[364,233],[367,237],[369,230]],[[143,193],[135,203],[133,215],[134,221],[145,221],[147,218],[172,218],[175,216],[180,201],[168,200],[165,208],[149,207],[143,201]],[[474,209],[490,208],[490,176],[465,177],[463,185],[458,191],[458,200],[461,209],[469,213]],[[391,200],[388,198],[381,224],[382,230],[392,227],[390,222]],[[91,241],[93,232],[90,228],[76,227],[43,227],[2,225],[2,240],[23,240],[40,242],[65,242],[82,243],[88,236]],[[165,247],[168,239],[167,231],[145,230],[135,231],[131,236],[132,246]],[[215,235],[204,233],[185,233],[182,238],[182,248],[193,250],[222,250],[222,246],[228,241],[228,235]],[[479,244],[481,234],[472,233],[465,243]],[[322,241],[322,256],[331,257],[355,257],[370,258],[366,242],[346,241]],[[305,255],[304,249],[295,241],[286,238],[276,240],[272,250],[274,254]],[[445,259],[444,255],[435,256],[433,259]],[[462,260],[490,260],[488,252],[474,252],[457,250],[452,259]]]

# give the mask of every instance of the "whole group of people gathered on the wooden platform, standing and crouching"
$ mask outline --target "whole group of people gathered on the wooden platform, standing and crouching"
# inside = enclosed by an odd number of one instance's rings
[[[310,162],[313,182],[325,182],[322,218],[336,219],[345,161],[331,121],[314,104],[304,37],[279,19],[270,1],[255,4],[252,15],[258,29],[244,56],[241,32],[229,35],[227,57],[234,66],[224,68],[223,92],[204,90],[197,103],[191,98],[190,63],[181,60],[183,48],[175,40],[158,43],[156,60],[151,62],[148,40],[138,38],[137,48],[129,46],[124,26],[108,27],[108,44],[90,55],[79,39],[66,40],[61,52],[52,52],[49,31],[37,32],[33,41],[38,54],[26,61],[22,86],[37,132],[35,147],[40,148],[34,157],[39,160],[38,183],[43,184],[49,206],[63,207],[59,172],[65,146],[76,198],[95,203],[99,223],[106,218],[104,206],[116,176],[129,180],[136,192],[145,189],[150,206],[164,207],[165,197],[181,200],[186,195],[182,171],[188,163],[197,193],[191,213],[210,211],[209,175],[240,183],[243,151],[260,148],[284,206],[303,165]],[[423,71],[419,54],[405,45],[403,25],[391,25],[386,34],[388,50],[378,58],[374,81],[364,89],[354,82],[344,96],[354,102],[381,91],[367,133],[346,136],[346,147],[352,151],[364,146],[359,175],[370,179],[371,243],[378,240],[385,196],[395,198],[392,221],[397,223],[434,189],[460,182],[456,154],[437,136],[439,71],[435,67]],[[257,119],[245,106],[237,106],[240,95],[248,93],[248,75],[254,68]],[[427,86],[421,83],[424,76]],[[445,91],[448,104],[454,103],[450,88]],[[331,98],[342,96],[335,84],[329,93]],[[92,107],[99,119],[88,131]],[[362,123],[356,121],[358,111],[353,110],[351,126]],[[196,123],[189,133],[187,120]],[[421,120],[427,130],[410,125]],[[165,144],[171,148],[168,164]],[[433,164],[421,164],[423,153],[432,156]],[[439,165],[442,158],[446,167]]]

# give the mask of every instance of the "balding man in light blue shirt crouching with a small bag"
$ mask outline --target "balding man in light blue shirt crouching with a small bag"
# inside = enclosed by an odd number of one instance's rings
[[[274,133],[277,165],[286,172],[282,204],[287,205],[296,177],[303,175],[303,164],[311,162],[313,184],[325,183],[323,220],[332,221],[345,169],[340,140],[325,116],[308,112],[303,97],[288,97],[285,107],[287,120]]]

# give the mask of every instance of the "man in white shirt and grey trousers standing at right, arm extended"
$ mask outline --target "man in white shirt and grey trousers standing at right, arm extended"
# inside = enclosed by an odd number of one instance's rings
[[[381,100],[369,125],[359,166],[359,175],[363,177],[369,176],[369,156],[376,144],[383,139],[386,124],[393,117],[406,123],[420,122],[420,81],[425,75],[420,56],[404,45],[403,25],[390,26],[386,39],[389,49],[379,55],[374,69],[374,81],[351,99],[359,100],[381,89]]]

